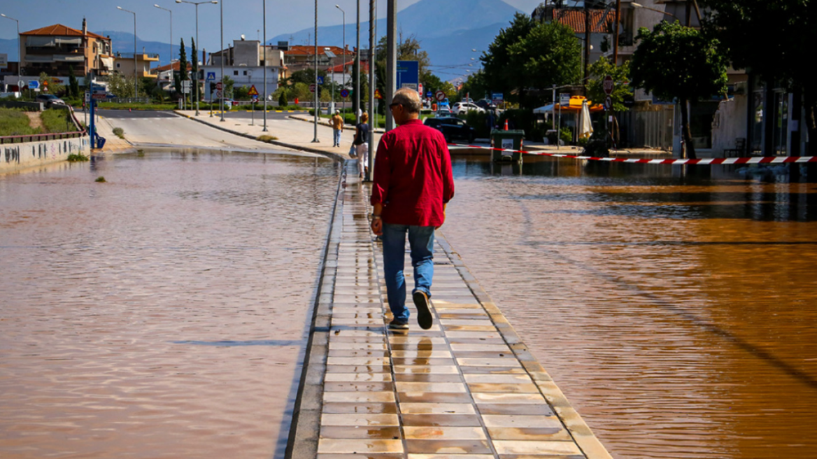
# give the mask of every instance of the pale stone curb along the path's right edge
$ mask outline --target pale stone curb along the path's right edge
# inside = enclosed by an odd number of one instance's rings
[[[529,353],[525,342],[516,334],[516,330],[511,327],[511,323],[508,322],[505,315],[502,314],[502,311],[499,310],[491,297],[488,296],[488,293],[480,287],[480,283],[477,282],[474,275],[468,270],[459,254],[453,251],[451,244],[440,231],[437,231],[437,234],[437,241],[440,243],[440,247],[443,247],[445,255],[448,256],[449,261],[456,267],[458,273],[462,276],[465,283],[467,283],[477,301],[480,301],[484,310],[488,312],[491,321],[496,326],[499,334],[502,335],[502,339],[511,347],[511,350],[513,350],[516,355],[516,359],[519,359],[520,363],[522,363],[525,371],[528,372],[531,379],[534,380],[534,384],[536,384],[539,391],[542,392],[542,395],[547,399],[547,403],[551,404],[553,411],[556,412],[556,416],[558,416],[562,424],[565,425],[565,428],[569,431],[576,444],[578,444],[578,447],[582,449],[587,459],[613,459],[604,445],[596,438],[596,434],[593,434],[590,427],[587,426],[587,423],[569,403],[567,397],[565,397],[565,394],[562,393],[551,376],[542,368],[542,365],[536,361],[534,356]]]

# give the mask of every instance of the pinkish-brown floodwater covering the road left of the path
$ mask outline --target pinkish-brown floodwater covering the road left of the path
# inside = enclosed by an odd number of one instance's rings
[[[0,457],[282,457],[338,173],[193,151],[0,176]]]

